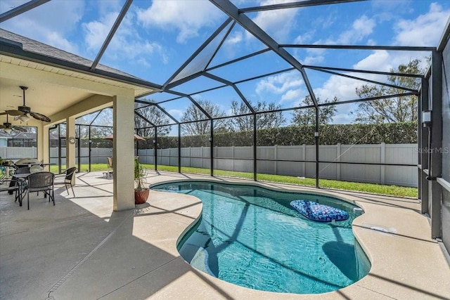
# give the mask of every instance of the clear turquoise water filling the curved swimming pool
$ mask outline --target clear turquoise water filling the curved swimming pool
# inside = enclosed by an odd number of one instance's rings
[[[181,238],[178,249],[192,266],[221,280],[271,292],[317,294],[351,285],[371,268],[354,239],[356,206],[348,202],[209,182],[152,189],[193,195],[203,202],[201,219]],[[297,199],[345,210],[349,219],[310,221],[290,207]]]

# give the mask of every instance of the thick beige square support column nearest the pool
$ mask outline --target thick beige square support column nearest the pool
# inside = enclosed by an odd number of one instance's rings
[[[134,209],[133,91],[124,91],[113,98],[113,116],[113,209]]]

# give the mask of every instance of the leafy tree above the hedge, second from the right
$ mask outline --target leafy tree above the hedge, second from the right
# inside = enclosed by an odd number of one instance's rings
[[[314,105],[311,96],[306,96],[303,100],[304,105]],[[335,96],[333,100],[326,99],[324,103],[337,103],[338,97]],[[317,103],[321,104],[320,98],[317,98]],[[336,114],[336,105],[327,105],[320,107],[319,110],[319,124],[327,124]],[[316,125],[316,108],[303,108],[293,112],[293,124],[300,126],[315,126]]]

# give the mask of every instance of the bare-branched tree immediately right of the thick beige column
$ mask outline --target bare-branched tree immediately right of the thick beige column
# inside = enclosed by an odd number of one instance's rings
[[[153,103],[153,100],[146,99],[146,101]],[[164,125],[170,122],[169,117],[167,117],[167,115],[165,115],[165,113],[155,105],[148,105],[146,107],[138,108],[136,109],[136,112],[155,125]],[[155,129],[153,126],[146,122],[146,120],[139,117],[139,115],[134,114],[134,128],[139,129],[140,136],[154,136]],[[158,136],[167,136],[171,130],[172,126],[158,126]]]

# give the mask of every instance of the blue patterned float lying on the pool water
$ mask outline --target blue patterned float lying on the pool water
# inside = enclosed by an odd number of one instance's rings
[[[347,211],[309,200],[291,201],[290,206],[294,207],[300,214],[313,221],[331,222],[333,220],[343,221],[349,219]]]

